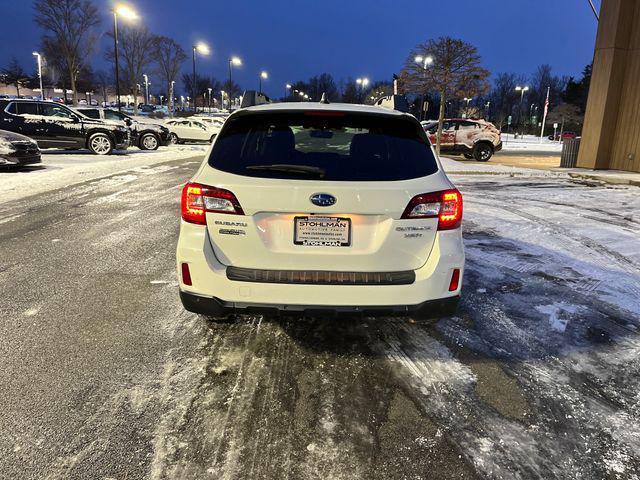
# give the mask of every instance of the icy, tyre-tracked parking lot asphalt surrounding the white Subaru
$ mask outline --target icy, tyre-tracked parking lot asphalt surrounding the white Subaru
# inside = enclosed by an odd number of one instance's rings
[[[637,189],[453,176],[458,315],[215,323],[177,295],[198,163],[0,205],[0,478],[637,478]]]

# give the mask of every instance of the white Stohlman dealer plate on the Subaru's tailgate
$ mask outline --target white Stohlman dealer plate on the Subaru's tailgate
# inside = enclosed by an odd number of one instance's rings
[[[351,245],[351,219],[295,217],[293,243],[309,247],[348,247]]]

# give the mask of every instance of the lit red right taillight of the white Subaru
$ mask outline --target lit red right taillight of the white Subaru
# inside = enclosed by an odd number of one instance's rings
[[[438,218],[438,230],[453,230],[462,223],[462,195],[456,189],[416,195],[401,218]]]

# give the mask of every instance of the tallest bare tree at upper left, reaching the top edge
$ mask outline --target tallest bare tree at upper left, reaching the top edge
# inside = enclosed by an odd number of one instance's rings
[[[89,0],[36,0],[33,8],[36,24],[45,31],[43,49],[58,52],[77,105],[76,81],[96,45],[98,9]]]

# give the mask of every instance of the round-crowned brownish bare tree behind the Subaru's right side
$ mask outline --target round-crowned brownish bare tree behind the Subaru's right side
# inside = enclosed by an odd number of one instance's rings
[[[424,66],[415,61],[417,56],[431,57],[433,62]],[[416,46],[405,63],[403,81],[409,91],[440,96],[436,151],[440,153],[440,138],[449,97],[475,97],[489,89],[489,71],[480,66],[480,55],[473,45],[450,37],[428,40]]]

